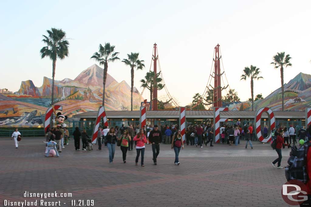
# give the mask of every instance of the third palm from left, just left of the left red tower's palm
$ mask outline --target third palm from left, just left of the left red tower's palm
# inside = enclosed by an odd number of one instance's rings
[[[123,59],[125,65],[131,67],[131,111],[133,110],[133,88],[134,88],[134,68],[137,70],[142,70],[145,65],[143,60],[138,59],[139,53],[128,54],[128,59]]]

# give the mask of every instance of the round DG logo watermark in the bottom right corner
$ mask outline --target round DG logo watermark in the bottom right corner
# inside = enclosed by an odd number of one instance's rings
[[[289,205],[300,205],[308,200],[307,186],[299,180],[286,182],[282,186],[281,194],[283,200]]]

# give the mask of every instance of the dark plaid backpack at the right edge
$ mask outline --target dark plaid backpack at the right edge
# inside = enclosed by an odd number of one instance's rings
[[[306,163],[309,146],[311,146],[311,143],[304,144],[299,149],[295,145],[291,147],[290,158],[287,161],[289,165],[285,167],[287,181],[299,180],[307,183],[308,173]]]

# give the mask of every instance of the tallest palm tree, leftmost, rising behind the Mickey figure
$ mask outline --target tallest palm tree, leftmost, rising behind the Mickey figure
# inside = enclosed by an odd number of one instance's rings
[[[54,104],[54,77],[57,58],[63,60],[68,56],[68,45],[69,42],[66,39],[66,33],[62,29],[51,28],[51,30],[46,30],[49,36],[42,35],[44,39],[42,40],[47,46],[42,47],[40,50],[41,58],[48,56],[53,61],[52,69],[52,94],[51,94],[51,105]],[[51,118],[51,120],[53,117]],[[52,126],[52,125],[51,125]]]

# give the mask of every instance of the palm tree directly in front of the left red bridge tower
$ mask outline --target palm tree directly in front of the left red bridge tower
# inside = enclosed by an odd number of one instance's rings
[[[159,77],[160,76],[160,72],[156,74],[156,88],[158,90],[161,90],[164,88],[164,85],[162,83],[160,83],[162,81],[162,79]],[[143,88],[147,88],[150,91],[150,103],[151,103],[151,107],[152,107],[152,95],[153,95],[153,89],[154,87],[154,78],[155,78],[155,72],[154,71],[150,71],[146,73],[145,79],[141,79],[140,82],[142,83],[141,87]]]

